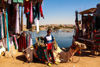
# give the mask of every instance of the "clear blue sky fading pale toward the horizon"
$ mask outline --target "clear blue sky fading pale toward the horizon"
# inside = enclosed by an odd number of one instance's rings
[[[40,24],[74,24],[75,11],[96,7],[100,0],[43,0]],[[24,19],[25,21],[25,19]]]

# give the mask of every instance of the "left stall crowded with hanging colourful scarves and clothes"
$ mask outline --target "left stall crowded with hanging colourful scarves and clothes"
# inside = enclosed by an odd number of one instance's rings
[[[22,51],[33,45],[31,34],[23,32],[23,15],[26,15],[27,29],[31,29],[32,24],[36,23],[39,32],[40,17],[44,18],[42,1],[0,0],[0,55],[2,52],[12,51],[12,47]]]

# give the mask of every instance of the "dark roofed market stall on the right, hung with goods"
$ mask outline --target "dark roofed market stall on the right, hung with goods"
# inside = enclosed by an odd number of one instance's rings
[[[100,51],[100,4],[75,14],[73,40],[86,44],[89,50]]]

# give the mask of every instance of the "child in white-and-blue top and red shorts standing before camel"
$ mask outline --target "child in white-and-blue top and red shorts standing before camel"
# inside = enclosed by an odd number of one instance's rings
[[[47,48],[47,61],[48,61],[49,66],[51,66],[50,56],[53,60],[53,63],[57,64],[55,62],[54,55],[53,55],[54,37],[53,37],[53,35],[51,35],[51,32],[52,32],[52,30],[48,29],[47,30],[47,35],[44,38],[44,42],[45,42],[45,45],[46,45],[46,48]]]

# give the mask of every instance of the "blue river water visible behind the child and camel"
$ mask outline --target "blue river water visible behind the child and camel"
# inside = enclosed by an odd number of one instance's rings
[[[52,32],[52,35],[55,37],[60,48],[67,48],[72,45],[73,33],[73,30],[71,32],[58,30],[56,32]],[[35,38],[39,36],[46,36],[46,31],[40,31],[38,34],[36,32],[31,32],[31,35],[33,38],[33,44],[35,44]]]

